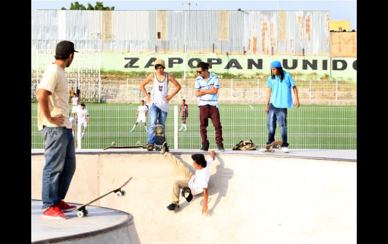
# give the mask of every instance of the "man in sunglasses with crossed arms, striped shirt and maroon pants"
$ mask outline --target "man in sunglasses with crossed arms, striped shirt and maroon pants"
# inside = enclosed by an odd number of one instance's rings
[[[209,150],[209,140],[206,128],[208,119],[212,120],[216,130],[216,144],[220,151],[224,151],[222,138],[222,126],[220,113],[218,111],[218,89],[220,89],[220,79],[215,73],[209,70],[209,63],[199,62],[197,65],[198,77],[196,78],[196,97],[198,97],[198,107],[200,108],[200,131],[202,138],[202,151]]]

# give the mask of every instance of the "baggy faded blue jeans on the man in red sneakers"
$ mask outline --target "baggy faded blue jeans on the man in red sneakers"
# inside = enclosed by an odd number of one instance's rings
[[[47,127],[42,130],[45,165],[42,180],[42,210],[64,199],[76,171],[76,149],[72,129]]]

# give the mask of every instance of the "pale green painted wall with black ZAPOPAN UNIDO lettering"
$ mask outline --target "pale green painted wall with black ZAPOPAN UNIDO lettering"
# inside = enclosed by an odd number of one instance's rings
[[[166,71],[194,72],[197,63],[204,61],[212,64],[214,73],[255,74],[270,73],[270,63],[274,60],[282,62],[286,71],[291,73],[317,73],[331,75],[334,78],[342,77],[357,80],[357,58],[330,58],[321,56],[241,56],[217,54],[134,54],[134,53],[101,53],[101,69],[116,71],[148,71],[153,72],[154,60],[163,58],[166,62]]]

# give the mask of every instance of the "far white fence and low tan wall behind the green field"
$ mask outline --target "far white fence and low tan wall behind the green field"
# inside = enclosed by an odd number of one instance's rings
[[[143,94],[139,88],[143,79],[126,80],[104,80],[101,89],[102,101],[115,100],[125,102],[129,100],[142,100]],[[173,102],[180,102],[181,99],[197,100],[195,97],[195,79],[177,79],[182,89],[173,98]],[[249,101],[249,103],[260,104],[267,99],[267,79],[221,79],[221,88],[218,93],[219,101]],[[151,91],[152,82],[146,87]],[[357,100],[357,84],[341,80],[295,80],[298,89],[299,100],[312,101],[340,101]],[[173,91],[173,84],[169,83],[169,91]],[[292,92],[294,96],[294,93]],[[256,102],[256,103],[255,103]]]

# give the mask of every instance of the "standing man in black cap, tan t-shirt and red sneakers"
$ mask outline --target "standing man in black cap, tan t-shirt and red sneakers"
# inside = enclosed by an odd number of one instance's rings
[[[74,59],[74,43],[56,45],[55,61],[48,65],[38,86],[38,130],[44,139],[42,217],[66,219],[71,206],[63,201],[76,171],[76,152],[69,121],[69,83],[64,69]]]

